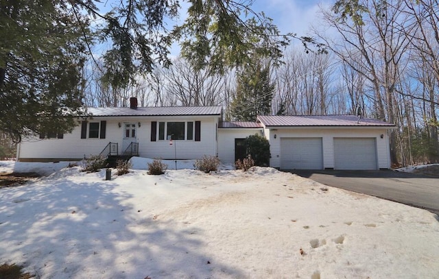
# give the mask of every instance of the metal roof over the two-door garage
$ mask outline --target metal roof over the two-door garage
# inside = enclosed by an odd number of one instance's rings
[[[383,126],[394,127],[393,124],[377,119],[363,118],[358,121],[355,115],[296,115],[296,116],[259,116],[265,127],[282,126]]]

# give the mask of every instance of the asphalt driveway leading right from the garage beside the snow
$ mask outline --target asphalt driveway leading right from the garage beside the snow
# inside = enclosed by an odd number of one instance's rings
[[[391,170],[290,172],[328,186],[423,208],[439,216],[439,178],[434,176]]]

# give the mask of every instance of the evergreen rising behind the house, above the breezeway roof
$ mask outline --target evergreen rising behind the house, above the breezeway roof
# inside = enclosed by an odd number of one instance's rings
[[[248,66],[237,77],[235,97],[230,104],[232,119],[256,121],[258,115],[269,115],[274,88],[268,66]]]

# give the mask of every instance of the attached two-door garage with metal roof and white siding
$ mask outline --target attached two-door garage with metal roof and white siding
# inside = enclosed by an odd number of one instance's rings
[[[357,115],[258,116],[278,169],[390,169],[392,123]]]

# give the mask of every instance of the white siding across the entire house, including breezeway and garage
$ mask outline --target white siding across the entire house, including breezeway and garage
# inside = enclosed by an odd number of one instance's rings
[[[124,123],[134,123],[136,138],[139,143],[139,156],[145,158],[198,159],[204,155],[218,156],[224,163],[233,164],[235,160],[235,138],[246,138],[251,134],[263,134],[270,141],[270,167],[281,168],[281,138],[321,138],[322,168],[335,167],[334,138],[373,138],[375,140],[376,169],[390,169],[390,149],[386,128],[237,128],[217,129],[218,116],[186,116],[186,117],[94,117],[93,122],[106,121],[105,138],[81,138],[81,123],[78,123],[71,133],[64,134],[62,140],[23,138],[17,150],[19,160],[80,160],[84,157],[99,154],[108,143],[118,143],[121,153],[123,136],[125,135]],[[151,141],[152,121],[157,126],[160,122],[200,121],[200,141],[176,141],[169,145],[169,141]],[[158,132],[158,127],[156,127]],[[187,129],[190,130],[190,129]],[[263,131],[263,133],[261,132]],[[381,138],[382,135],[382,138]],[[186,134],[187,136],[187,134]],[[274,138],[276,136],[276,138]],[[187,136],[190,138],[190,136]],[[284,157],[285,158],[285,157]]]

